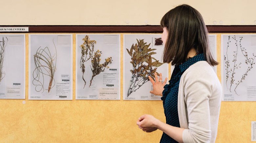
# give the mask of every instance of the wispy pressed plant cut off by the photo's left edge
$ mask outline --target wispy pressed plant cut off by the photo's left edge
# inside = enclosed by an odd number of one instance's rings
[[[2,41],[0,41],[0,83],[2,79],[5,77],[5,72],[3,71],[3,63],[4,63],[4,57],[5,57],[5,47],[7,45],[8,38],[6,37],[6,40],[4,40],[4,37]]]

